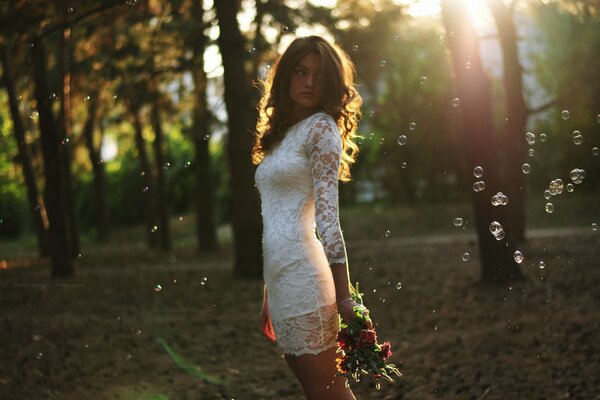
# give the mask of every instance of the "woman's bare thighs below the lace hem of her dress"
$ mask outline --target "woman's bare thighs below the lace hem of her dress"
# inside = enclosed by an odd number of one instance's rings
[[[346,387],[346,378],[336,376],[336,348],[319,354],[285,355],[290,369],[302,385],[308,400],[356,400]]]

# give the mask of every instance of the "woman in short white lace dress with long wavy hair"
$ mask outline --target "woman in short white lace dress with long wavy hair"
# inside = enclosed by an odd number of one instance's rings
[[[350,320],[359,306],[338,212],[338,179],[350,180],[358,152],[352,139],[362,99],[354,73],[338,46],[297,38],[262,82],[258,107],[252,161],[263,216],[261,331],[277,342],[308,399],[355,399],[335,361],[338,313]]]

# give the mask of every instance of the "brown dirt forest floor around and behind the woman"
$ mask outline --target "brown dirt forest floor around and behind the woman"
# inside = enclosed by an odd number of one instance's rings
[[[380,391],[352,385],[358,399],[600,399],[600,232],[530,239],[526,280],[501,287],[477,283],[468,240],[346,244],[403,373]],[[63,281],[9,259],[0,399],[302,399],[258,331],[262,281],[232,279],[227,251],[193,253],[98,246]]]

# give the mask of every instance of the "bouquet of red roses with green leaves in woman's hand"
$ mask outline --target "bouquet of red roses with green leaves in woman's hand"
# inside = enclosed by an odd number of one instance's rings
[[[375,387],[379,390],[381,378],[393,382],[391,374],[398,376],[402,376],[402,374],[394,364],[388,364],[386,361],[392,355],[390,342],[377,343],[377,332],[375,329],[368,329],[368,316],[365,313],[367,308],[363,305],[362,293],[358,292],[358,283],[356,290],[352,293],[352,299],[360,305],[354,307],[352,321],[342,320],[341,329],[338,332],[337,352],[341,356],[336,358],[337,375],[359,382],[361,375],[372,372]]]

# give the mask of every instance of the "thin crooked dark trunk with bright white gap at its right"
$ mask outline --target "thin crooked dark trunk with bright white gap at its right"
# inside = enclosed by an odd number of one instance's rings
[[[100,150],[94,145],[94,127],[97,119],[98,93],[93,93],[88,102],[88,116],[83,127],[83,137],[90,155],[92,171],[94,172],[94,209],[96,210],[96,232],[100,242],[107,242],[109,236],[109,213],[108,201],[106,199],[106,172],[102,161]],[[102,140],[100,140],[102,143]]]

